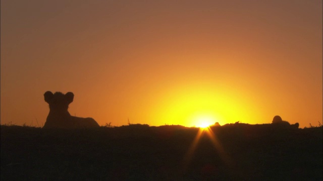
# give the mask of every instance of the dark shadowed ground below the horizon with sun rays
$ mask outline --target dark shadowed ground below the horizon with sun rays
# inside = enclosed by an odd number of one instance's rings
[[[322,180],[322,144],[322,127],[1,126],[1,180]]]

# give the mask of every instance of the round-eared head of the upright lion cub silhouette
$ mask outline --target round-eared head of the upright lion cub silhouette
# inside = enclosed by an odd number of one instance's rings
[[[65,95],[61,92],[56,92],[52,94],[47,91],[44,94],[45,102],[49,104],[49,110],[54,112],[67,112],[69,104],[73,102],[74,94],[71,92]]]

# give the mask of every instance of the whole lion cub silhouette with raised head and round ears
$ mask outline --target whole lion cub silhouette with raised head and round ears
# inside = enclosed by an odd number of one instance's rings
[[[45,102],[49,104],[49,114],[43,128],[94,128],[99,127],[93,118],[79,118],[71,116],[67,111],[73,102],[74,94],[64,95],[61,92],[44,94]]]

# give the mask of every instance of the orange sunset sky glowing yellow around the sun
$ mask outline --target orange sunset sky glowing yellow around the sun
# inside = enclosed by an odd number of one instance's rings
[[[1,124],[322,123],[322,1],[1,1]]]

